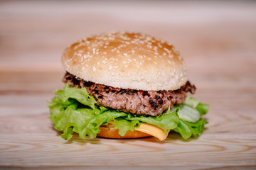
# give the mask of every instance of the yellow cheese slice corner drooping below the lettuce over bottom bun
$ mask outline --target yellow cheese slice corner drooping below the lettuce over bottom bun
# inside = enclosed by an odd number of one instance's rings
[[[110,121],[110,124],[114,124],[114,121]],[[159,128],[158,126],[150,125],[148,123],[142,123],[139,126],[139,128],[135,128],[135,130],[138,130],[140,132],[144,132],[151,136],[157,137],[157,138],[159,138],[159,140],[165,140],[170,131],[170,130],[168,130],[166,132],[163,129]]]

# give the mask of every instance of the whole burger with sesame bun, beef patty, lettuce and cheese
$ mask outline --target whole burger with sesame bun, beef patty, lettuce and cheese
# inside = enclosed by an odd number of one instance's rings
[[[142,33],[83,38],[62,57],[64,89],[48,102],[54,128],[79,137],[165,140],[200,135],[208,105],[192,98],[183,58],[168,42]]]

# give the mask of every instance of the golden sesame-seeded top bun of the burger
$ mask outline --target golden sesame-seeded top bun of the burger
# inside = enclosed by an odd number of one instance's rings
[[[144,91],[176,90],[188,81],[183,58],[167,42],[141,33],[109,33],[66,48],[62,62],[96,84]]]

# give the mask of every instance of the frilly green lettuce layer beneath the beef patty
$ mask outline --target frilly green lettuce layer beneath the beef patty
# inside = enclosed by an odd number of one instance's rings
[[[85,88],[78,89],[66,84],[63,90],[56,90],[54,93],[56,96],[48,102],[50,120],[55,123],[56,130],[63,131],[61,137],[67,140],[73,136],[73,132],[77,132],[82,139],[94,138],[100,132],[100,125],[107,125],[112,120],[114,120],[114,128],[117,128],[119,135],[122,136],[128,130],[134,131],[135,127],[139,127],[141,123],[149,123],[166,131],[173,129],[185,139],[191,135],[200,135],[206,124],[202,118],[197,121],[193,120],[193,123],[179,118],[180,108],[178,106],[168,108],[161,115],[152,117],[99,107],[96,105],[95,98],[90,96]],[[189,101],[193,103],[193,98],[189,98]],[[186,103],[183,104],[186,105]],[[201,115],[208,110],[208,106],[202,103],[193,104],[193,106],[187,104],[187,106]],[[186,109],[183,112],[188,115]]]

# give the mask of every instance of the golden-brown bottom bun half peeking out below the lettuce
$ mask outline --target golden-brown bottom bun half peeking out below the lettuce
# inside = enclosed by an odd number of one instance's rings
[[[100,133],[97,134],[98,137],[105,137],[105,138],[114,138],[114,139],[132,139],[132,138],[139,138],[139,137],[150,137],[151,135],[146,134],[144,132],[139,132],[137,130],[128,131],[124,136],[119,135],[118,129],[114,129],[110,126],[100,126]]]

